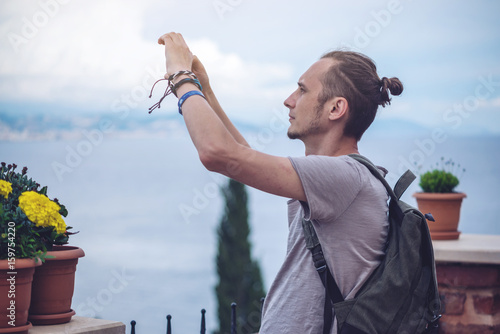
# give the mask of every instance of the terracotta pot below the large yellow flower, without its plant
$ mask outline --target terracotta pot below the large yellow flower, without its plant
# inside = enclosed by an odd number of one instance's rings
[[[71,300],[75,288],[75,272],[83,250],[72,246],[54,246],[45,263],[35,270],[29,320],[34,325],[54,325],[69,322],[75,311]]]

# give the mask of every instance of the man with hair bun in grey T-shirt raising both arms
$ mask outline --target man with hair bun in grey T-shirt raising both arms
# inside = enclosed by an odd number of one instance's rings
[[[249,147],[211,91],[208,76],[180,34],[160,37],[167,74],[190,70],[199,87],[177,87],[182,114],[203,165],[262,191],[291,198],[284,263],[265,300],[261,334],[321,333],[325,289],[305,247],[302,219],[311,220],[330,270],[345,299],[353,298],[380,263],[387,238],[383,185],[348,157],[372,123],[379,105],[399,95],[397,78],[380,79],[373,62],[358,53],[331,52],[314,63],[285,100],[288,136],[305,156],[285,158]],[[179,75],[178,83],[189,75]],[[193,91],[195,91],[193,93]],[[331,329],[336,333],[336,326]]]

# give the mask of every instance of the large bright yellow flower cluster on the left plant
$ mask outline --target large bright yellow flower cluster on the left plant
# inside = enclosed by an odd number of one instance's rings
[[[19,207],[36,226],[54,226],[57,233],[66,232],[66,223],[59,213],[61,207],[47,196],[26,191],[19,196]]]

